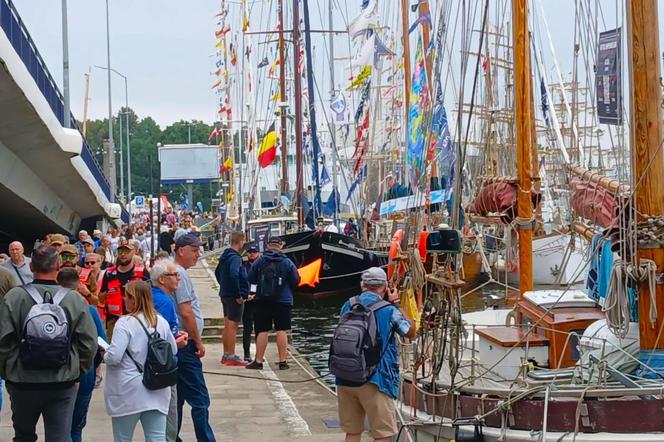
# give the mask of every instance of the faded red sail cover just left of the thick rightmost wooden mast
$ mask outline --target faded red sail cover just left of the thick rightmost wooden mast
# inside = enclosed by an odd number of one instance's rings
[[[616,224],[619,206],[613,194],[606,189],[572,178],[572,209],[593,224],[611,227]]]

